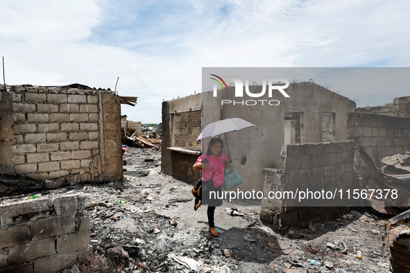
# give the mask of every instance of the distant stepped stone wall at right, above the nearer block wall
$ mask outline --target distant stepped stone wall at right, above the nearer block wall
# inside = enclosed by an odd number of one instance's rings
[[[393,105],[360,107],[357,112],[410,117],[410,96],[394,98]]]

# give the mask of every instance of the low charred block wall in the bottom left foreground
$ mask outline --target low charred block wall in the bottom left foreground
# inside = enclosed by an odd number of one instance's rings
[[[40,196],[0,205],[0,272],[54,273],[85,255],[85,196]]]

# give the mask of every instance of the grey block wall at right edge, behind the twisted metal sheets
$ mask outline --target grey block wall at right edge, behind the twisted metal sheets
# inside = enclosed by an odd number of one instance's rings
[[[404,154],[410,150],[410,118],[351,112],[348,116],[348,132],[348,139],[354,141],[354,148],[364,146],[379,167],[384,165],[381,161],[383,157]],[[368,177],[370,170],[358,152],[355,162],[358,175]],[[365,183],[366,179],[362,181]]]

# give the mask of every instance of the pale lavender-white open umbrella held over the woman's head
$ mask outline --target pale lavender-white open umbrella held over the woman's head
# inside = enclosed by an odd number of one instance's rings
[[[214,137],[218,136],[219,134],[225,134],[228,132],[234,132],[237,130],[244,129],[246,127],[256,126],[248,121],[244,121],[242,118],[226,118],[222,121],[215,121],[206,125],[206,127],[202,130],[198,139],[205,139],[206,137]],[[225,135],[226,139],[226,135]],[[226,148],[228,148],[228,142],[226,143]],[[228,148],[229,153],[229,148]]]

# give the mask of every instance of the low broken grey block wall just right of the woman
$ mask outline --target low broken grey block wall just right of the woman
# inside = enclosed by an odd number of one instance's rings
[[[281,169],[266,168],[264,196],[269,192],[337,191],[352,188],[353,141],[282,146]],[[337,200],[337,201],[335,201]],[[347,209],[335,200],[262,199],[260,218],[278,231],[305,228],[310,222],[339,218]]]

